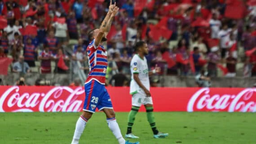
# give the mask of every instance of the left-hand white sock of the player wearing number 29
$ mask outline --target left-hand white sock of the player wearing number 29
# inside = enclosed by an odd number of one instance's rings
[[[73,140],[71,144],[78,144],[80,136],[82,135],[84,131],[84,127],[86,125],[87,119],[84,118],[82,115],[78,118],[76,125],[75,125],[75,133],[73,136]]]

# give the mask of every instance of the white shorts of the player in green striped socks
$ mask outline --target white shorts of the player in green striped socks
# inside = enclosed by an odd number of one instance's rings
[[[152,104],[152,97],[146,97],[145,94],[136,93],[132,95],[132,106],[141,107],[141,105]]]

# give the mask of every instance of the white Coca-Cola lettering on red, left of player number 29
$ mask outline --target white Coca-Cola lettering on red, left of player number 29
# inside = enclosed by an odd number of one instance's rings
[[[53,87],[48,92],[22,93],[20,87],[14,86],[0,96],[0,112],[77,112],[82,110],[83,99],[82,87]]]

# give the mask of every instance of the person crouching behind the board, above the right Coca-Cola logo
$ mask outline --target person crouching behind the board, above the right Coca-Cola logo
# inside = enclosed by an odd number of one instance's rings
[[[195,76],[195,81],[198,87],[211,87],[211,78],[205,70],[201,70],[201,72]]]

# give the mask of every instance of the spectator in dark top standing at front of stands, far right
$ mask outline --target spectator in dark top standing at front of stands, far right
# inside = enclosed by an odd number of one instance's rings
[[[228,69],[228,73],[226,77],[235,77],[236,76],[236,63],[237,59],[233,56],[233,52],[229,52],[229,56],[226,58],[226,67]]]

